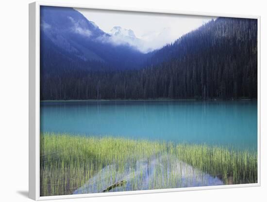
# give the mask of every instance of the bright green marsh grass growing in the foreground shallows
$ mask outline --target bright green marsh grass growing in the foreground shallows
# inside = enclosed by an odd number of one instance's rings
[[[219,177],[225,184],[256,183],[257,154],[207,145],[174,144],[113,137],[82,137],[42,133],[40,143],[41,196],[72,194],[89,179],[97,177],[96,192],[105,190],[103,181],[116,185],[124,173],[130,183],[111,191],[140,190],[145,173],[140,169],[159,159],[148,189],[183,186],[182,162]],[[164,157],[162,157],[164,154]],[[177,162],[180,162],[178,165]],[[110,168],[103,173],[103,169]],[[180,172],[181,170],[181,172]],[[136,173],[138,171],[138,173]],[[101,174],[102,173],[102,174]],[[104,176],[103,176],[104,175]],[[198,173],[196,173],[198,175]],[[201,178],[201,173],[199,172]],[[127,187],[131,185],[131,187]]]

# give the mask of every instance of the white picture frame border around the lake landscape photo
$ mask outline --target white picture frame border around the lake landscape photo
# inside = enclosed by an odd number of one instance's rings
[[[223,16],[223,17],[239,17],[253,18],[258,22],[258,182],[254,184],[240,185],[222,185],[222,186],[200,186],[186,188],[171,188],[171,189],[154,189],[154,190],[139,190],[139,191],[124,191],[112,193],[92,193],[92,194],[77,194],[77,195],[60,195],[60,196],[43,196],[40,197],[40,6],[60,6],[73,8],[89,8],[100,10],[116,10],[116,11],[134,11],[148,13],[164,13],[164,14],[182,14],[196,16]],[[180,12],[168,10],[148,10],[148,9],[132,9],[118,7],[96,7],[90,5],[77,5],[70,3],[47,3],[33,2],[29,4],[29,198],[41,200],[53,199],[70,199],[70,198],[85,198],[85,197],[102,197],[115,195],[129,194],[147,194],[159,192],[176,192],[176,191],[191,191],[203,189],[220,189],[220,188],[235,188],[235,187],[251,187],[260,186],[260,16],[241,16],[241,15],[225,15],[217,13],[201,13],[201,12]]]

